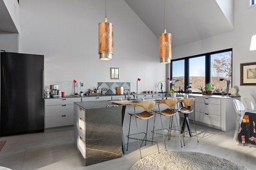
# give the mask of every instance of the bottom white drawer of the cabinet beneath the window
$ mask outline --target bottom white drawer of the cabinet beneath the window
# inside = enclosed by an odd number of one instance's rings
[[[196,111],[195,121],[199,121],[199,122],[206,123],[209,125],[221,127],[219,115],[206,114],[206,113]]]

